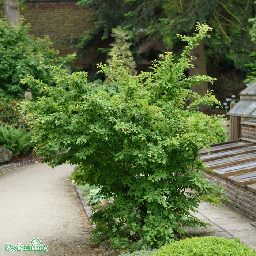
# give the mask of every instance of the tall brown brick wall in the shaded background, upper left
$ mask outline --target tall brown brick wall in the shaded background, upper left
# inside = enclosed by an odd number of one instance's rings
[[[53,47],[61,55],[78,50],[76,43],[84,31],[93,27],[89,18],[93,12],[76,5],[77,1],[32,1],[26,2],[28,8],[20,13],[31,25],[31,34],[36,37],[48,35]]]

